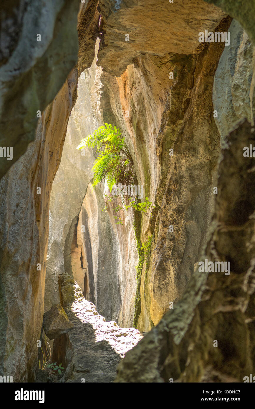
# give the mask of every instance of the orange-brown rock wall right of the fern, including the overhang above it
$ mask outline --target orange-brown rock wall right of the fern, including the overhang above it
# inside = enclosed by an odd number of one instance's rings
[[[219,155],[211,94],[224,46],[218,44],[211,53],[204,45],[196,47],[198,32],[205,26],[216,29],[226,15],[217,8],[207,9],[204,2],[190,2],[188,8],[171,6],[139,1],[132,4],[132,19],[128,8],[109,15],[107,7],[100,6],[102,115],[122,129],[138,184],[144,185],[144,197],[156,205],[151,221],[142,216],[136,224],[139,246],[153,236],[144,262],[140,254],[134,315],[134,325],[146,331],[162,318],[169,301],[180,299],[194,272],[212,215]],[[205,19],[198,18],[197,7],[199,16],[206,10]],[[189,27],[183,24],[187,12],[189,21],[196,22]],[[148,24],[151,15],[160,27]],[[230,21],[224,19],[218,28],[227,30]],[[185,43],[175,35],[179,27]],[[124,42],[126,33],[129,39]],[[122,74],[127,61],[130,65]],[[171,162],[170,148],[175,155]],[[174,236],[168,234],[169,225],[175,225]]]

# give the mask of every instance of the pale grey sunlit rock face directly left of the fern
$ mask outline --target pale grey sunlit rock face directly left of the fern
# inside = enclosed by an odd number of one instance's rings
[[[93,153],[86,151],[86,156],[81,156],[77,151],[80,140],[96,129],[100,122],[100,113],[93,110],[90,100],[91,86],[94,86],[95,74],[99,72],[94,63],[92,69],[86,70],[80,76],[77,99],[72,109],[65,137],[61,164],[52,186],[50,198],[50,229],[47,254],[47,280],[45,283],[45,311],[54,303],[59,302],[58,274],[66,270],[72,274],[71,252],[79,240],[77,233],[77,220],[81,205],[90,180],[93,178]],[[90,77],[93,77],[90,80]],[[100,83],[94,92],[100,92]],[[95,95],[93,96],[95,98]],[[96,108],[96,107],[95,107]],[[76,231],[76,243],[74,232]],[[81,257],[78,256],[78,258]],[[81,264],[81,262],[80,262]],[[83,277],[84,279],[84,277]],[[81,284],[81,279],[77,279]],[[84,285],[83,285],[84,287]]]

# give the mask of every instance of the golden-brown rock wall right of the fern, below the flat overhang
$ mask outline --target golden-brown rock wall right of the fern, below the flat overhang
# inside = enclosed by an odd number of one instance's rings
[[[223,19],[217,29],[227,31],[230,22]],[[153,235],[135,311],[135,325],[143,331],[160,321],[170,301],[181,298],[205,244],[219,157],[211,95],[223,49],[214,43],[201,45],[189,56],[145,55],[120,78],[101,76],[104,117],[120,124],[138,184],[156,204],[151,222],[142,217],[138,234],[142,243]],[[175,73],[174,81],[169,72]]]

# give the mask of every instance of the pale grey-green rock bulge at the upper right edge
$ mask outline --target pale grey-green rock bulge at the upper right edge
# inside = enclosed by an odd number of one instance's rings
[[[241,25],[233,20],[230,28],[231,47],[226,47],[214,76],[213,104],[218,112],[215,122],[221,134],[221,144],[240,120],[253,122],[254,46]],[[222,92],[224,90],[224,92]]]

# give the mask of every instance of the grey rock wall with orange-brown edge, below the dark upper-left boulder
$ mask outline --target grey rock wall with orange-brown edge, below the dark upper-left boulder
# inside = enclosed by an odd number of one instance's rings
[[[38,362],[50,190],[76,83],[73,70],[43,112],[35,141],[0,181],[0,370],[14,382],[33,381]]]

